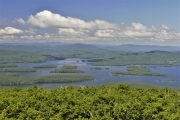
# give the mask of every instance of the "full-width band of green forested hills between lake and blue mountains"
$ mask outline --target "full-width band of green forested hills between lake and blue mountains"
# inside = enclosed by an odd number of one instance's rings
[[[33,49],[32,49],[33,47]],[[151,52],[119,52],[105,49],[96,50],[67,50],[59,47],[37,46],[7,47],[1,45],[0,63],[13,62],[45,62],[47,60],[63,60],[65,58],[89,59],[96,66],[123,65],[180,65],[180,52],[151,51]]]

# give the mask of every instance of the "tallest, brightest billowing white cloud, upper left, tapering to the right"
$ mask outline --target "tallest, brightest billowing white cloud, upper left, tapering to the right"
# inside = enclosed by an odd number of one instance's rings
[[[85,21],[71,18],[71,17],[63,17],[59,14],[54,14],[50,11],[44,10],[42,12],[37,13],[35,16],[30,15],[27,22],[33,26],[38,26],[41,28],[90,28]]]

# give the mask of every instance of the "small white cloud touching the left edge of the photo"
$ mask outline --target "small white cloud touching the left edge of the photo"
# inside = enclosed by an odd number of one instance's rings
[[[13,27],[5,27],[4,29],[0,29],[0,35],[13,35],[21,33],[23,33],[22,30]]]

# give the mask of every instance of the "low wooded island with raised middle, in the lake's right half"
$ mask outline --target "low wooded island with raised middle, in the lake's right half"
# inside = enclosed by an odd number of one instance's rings
[[[112,72],[112,75],[167,76],[167,74],[151,72],[150,68],[144,66],[127,66],[126,70],[125,72]]]

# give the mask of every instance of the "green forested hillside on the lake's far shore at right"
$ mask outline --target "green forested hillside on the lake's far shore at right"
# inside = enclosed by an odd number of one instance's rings
[[[180,52],[152,51],[144,53],[115,52],[116,56],[103,61],[93,62],[97,66],[124,66],[124,65],[180,65]]]

